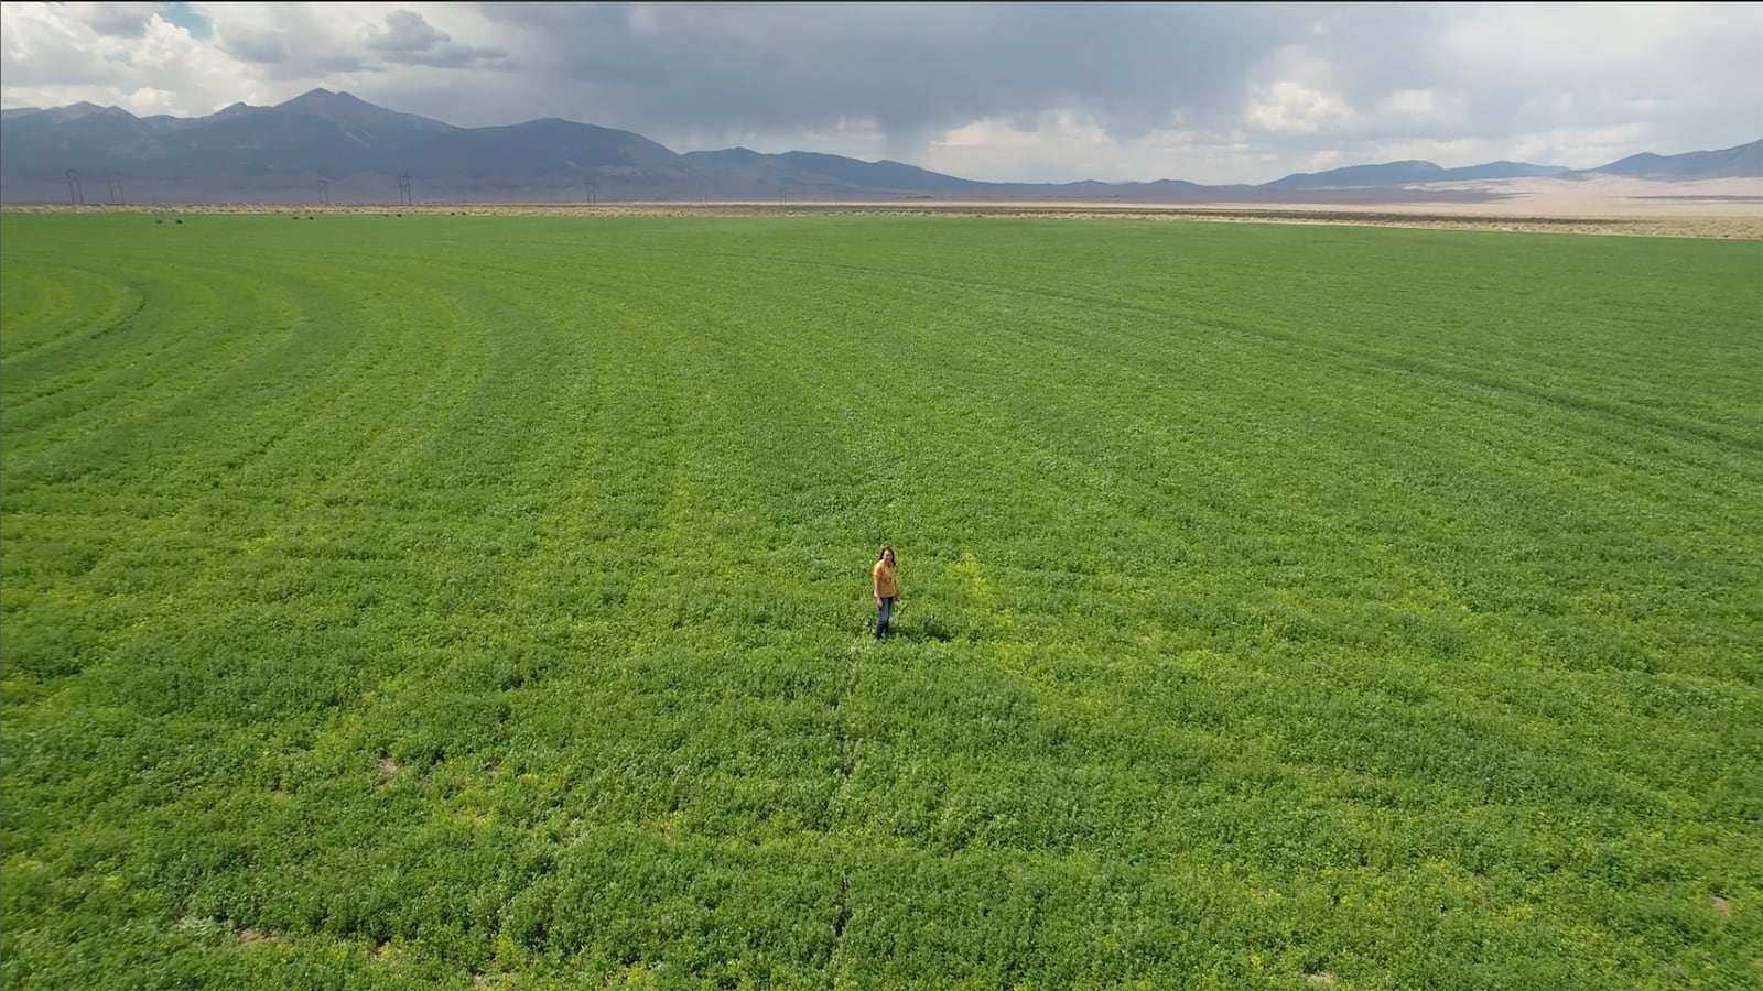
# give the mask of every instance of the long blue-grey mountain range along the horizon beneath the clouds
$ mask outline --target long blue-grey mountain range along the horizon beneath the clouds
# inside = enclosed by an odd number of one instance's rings
[[[1763,178],[1763,139],[1715,152],[1631,155],[1596,169],[1525,162],[1444,169],[1407,160],[1289,175],[1262,185],[998,183],[815,152],[726,148],[681,155],[629,130],[561,118],[455,127],[323,88],[277,106],[240,102],[199,118],[134,116],[88,102],[0,111],[0,199],[9,203],[1317,203],[1368,196],[1395,201],[1407,196],[1403,187],[1432,182],[1597,175]],[[1439,199],[1440,192],[1425,196]],[[1476,190],[1460,196],[1488,197]]]

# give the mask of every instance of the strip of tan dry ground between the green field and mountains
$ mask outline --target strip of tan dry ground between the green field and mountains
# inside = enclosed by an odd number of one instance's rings
[[[1617,176],[1590,180],[1523,178],[1407,187],[1322,189],[1275,194],[1238,190],[1255,201],[1227,199],[1231,190],[1199,190],[1181,201],[802,201],[802,203],[550,203],[453,205],[279,205],[208,203],[178,206],[5,206],[9,212],[139,212],[139,213],[465,213],[465,215],[598,215],[598,217],[765,217],[815,213],[959,215],[959,217],[1081,217],[1134,220],[1211,220],[1282,224],[1372,224],[1483,231],[1550,231],[1569,235],[1634,235],[1673,238],[1763,240],[1763,178],[1650,182]]]

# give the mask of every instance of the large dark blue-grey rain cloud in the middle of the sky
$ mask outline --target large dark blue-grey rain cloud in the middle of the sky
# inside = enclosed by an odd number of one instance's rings
[[[1282,5],[495,4],[601,120],[753,130],[874,118],[892,134],[1067,106],[1132,139],[1238,109],[1301,34]]]

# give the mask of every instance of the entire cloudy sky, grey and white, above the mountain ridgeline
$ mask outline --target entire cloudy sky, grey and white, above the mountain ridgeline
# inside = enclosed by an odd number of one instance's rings
[[[0,106],[314,86],[989,182],[1594,168],[1763,138],[1763,4],[0,4]]]

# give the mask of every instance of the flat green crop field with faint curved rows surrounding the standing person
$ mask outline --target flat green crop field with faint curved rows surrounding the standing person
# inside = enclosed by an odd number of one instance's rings
[[[0,229],[9,989],[1763,980],[1763,242],[160,220]]]

